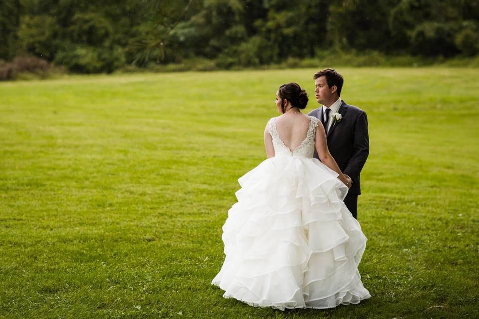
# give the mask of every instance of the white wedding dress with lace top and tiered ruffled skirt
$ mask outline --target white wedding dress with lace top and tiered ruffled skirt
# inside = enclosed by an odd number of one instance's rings
[[[318,120],[290,151],[268,122],[275,156],[240,177],[223,226],[226,259],[212,284],[256,307],[332,308],[370,298],[358,265],[361,226],[343,203],[348,188],[313,159]]]

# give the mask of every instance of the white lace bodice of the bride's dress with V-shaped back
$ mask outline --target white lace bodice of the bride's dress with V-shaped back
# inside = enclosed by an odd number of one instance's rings
[[[314,145],[316,137],[316,128],[318,127],[318,119],[310,116],[311,120],[309,121],[309,128],[306,133],[306,138],[301,142],[301,144],[291,151],[284,142],[279,138],[279,132],[277,128],[276,119],[272,118],[269,120],[268,133],[271,135],[273,140],[274,155],[287,155],[295,158],[312,158],[314,154]]]

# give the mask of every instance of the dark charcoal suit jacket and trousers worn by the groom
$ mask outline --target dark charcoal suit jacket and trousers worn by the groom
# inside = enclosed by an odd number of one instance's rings
[[[331,125],[326,135],[328,149],[341,171],[353,180],[344,203],[357,219],[358,195],[361,194],[359,173],[369,155],[368,118],[363,110],[342,100],[338,113],[342,115],[341,121]],[[324,123],[322,107],[308,115]],[[314,158],[319,159],[316,151]]]

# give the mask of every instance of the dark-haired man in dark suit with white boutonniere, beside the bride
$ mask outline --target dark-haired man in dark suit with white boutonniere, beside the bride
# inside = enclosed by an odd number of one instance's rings
[[[366,113],[339,98],[343,77],[334,69],[314,74],[316,101],[321,107],[308,115],[318,118],[326,131],[328,149],[341,171],[352,179],[344,203],[358,218],[359,173],[369,155],[368,118]],[[314,158],[318,158],[316,151]]]

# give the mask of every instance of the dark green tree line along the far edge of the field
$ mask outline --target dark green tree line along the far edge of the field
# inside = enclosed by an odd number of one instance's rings
[[[475,56],[479,0],[2,0],[0,59],[73,72],[215,60],[222,68],[325,51]]]

